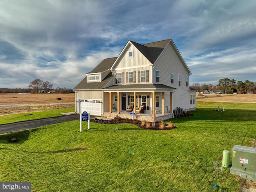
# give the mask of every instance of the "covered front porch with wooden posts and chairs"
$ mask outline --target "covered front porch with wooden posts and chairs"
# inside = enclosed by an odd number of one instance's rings
[[[149,122],[170,119],[173,117],[172,92],[173,90],[105,90],[103,116]]]

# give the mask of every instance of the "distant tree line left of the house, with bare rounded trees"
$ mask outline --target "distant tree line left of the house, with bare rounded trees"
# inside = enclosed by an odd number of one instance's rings
[[[36,78],[30,82],[28,88],[0,88],[0,93],[38,93],[41,90],[44,90],[45,93],[52,90],[54,90],[56,93],[73,92],[72,89],[66,87],[57,87],[54,89],[52,83]]]

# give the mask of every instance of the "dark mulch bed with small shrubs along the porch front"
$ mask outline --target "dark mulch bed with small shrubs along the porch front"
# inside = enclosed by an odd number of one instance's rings
[[[143,125],[144,122],[142,122],[140,120],[123,119],[123,118],[114,118],[112,120],[103,120],[103,119],[95,118],[95,119],[90,119],[90,122],[101,123],[101,124],[130,123],[130,124],[135,124],[135,125],[139,126],[140,128],[151,129],[151,130],[171,130],[171,129],[177,128],[174,125],[172,125],[172,127],[167,127],[167,124],[166,124],[166,127],[161,129],[160,122],[156,122],[154,127],[152,126],[152,122],[146,122],[146,123],[150,124],[150,127],[146,128],[146,125]]]

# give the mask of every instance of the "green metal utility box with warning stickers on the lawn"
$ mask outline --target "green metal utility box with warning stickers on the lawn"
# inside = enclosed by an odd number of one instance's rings
[[[256,148],[235,145],[231,155],[230,173],[256,182]]]

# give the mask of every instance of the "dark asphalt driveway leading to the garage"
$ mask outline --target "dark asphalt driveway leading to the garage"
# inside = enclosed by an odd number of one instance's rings
[[[90,116],[90,118],[94,118],[96,116]],[[22,121],[10,124],[0,125],[0,134],[26,130],[51,124],[63,123],[68,121],[80,120],[79,114],[72,114],[72,115],[63,115],[59,117],[53,118],[46,118],[46,119],[37,119],[37,120],[30,120],[30,121]]]

